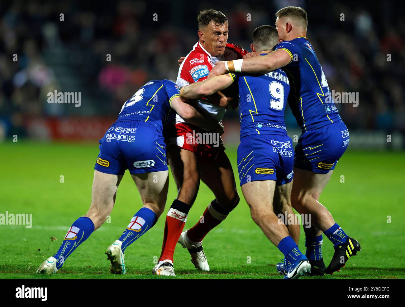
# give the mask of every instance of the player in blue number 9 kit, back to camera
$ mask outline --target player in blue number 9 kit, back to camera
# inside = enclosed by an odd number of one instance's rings
[[[252,51],[267,56],[278,42],[277,30],[262,25],[253,32]],[[279,211],[277,194],[290,198],[293,178],[294,150],[287,135],[284,110],[290,82],[282,69],[263,75],[226,74],[197,82],[180,91],[181,97],[199,99],[222,91],[233,82],[239,86],[241,144],[238,147],[238,171],[243,196],[249,205],[252,219],[266,237],[279,248],[288,263],[284,278],[294,279],[310,272],[311,264],[298,249],[298,224],[285,225],[275,211]],[[291,207],[286,208],[292,214]],[[297,242],[289,232],[296,233]],[[291,231],[291,230],[292,231]],[[295,231],[295,232],[294,232]]]

